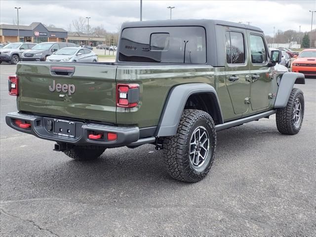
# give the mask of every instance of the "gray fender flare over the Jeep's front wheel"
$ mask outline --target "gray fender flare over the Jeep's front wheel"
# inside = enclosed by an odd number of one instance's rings
[[[290,97],[294,83],[305,84],[305,76],[302,73],[284,73],[276,94],[276,101],[274,108],[283,108],[286,106]]]

